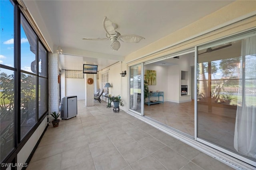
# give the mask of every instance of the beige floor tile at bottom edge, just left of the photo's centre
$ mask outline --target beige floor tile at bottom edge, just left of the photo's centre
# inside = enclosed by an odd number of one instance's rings
[[[117,150],[111,150],[94,158],[97,170],[120,170],[128,166]]]

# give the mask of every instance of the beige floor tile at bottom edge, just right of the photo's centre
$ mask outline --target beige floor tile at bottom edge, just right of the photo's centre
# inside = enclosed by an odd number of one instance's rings
[[[132,170],[166,170],[153,156],[148,155],[130,165]]]

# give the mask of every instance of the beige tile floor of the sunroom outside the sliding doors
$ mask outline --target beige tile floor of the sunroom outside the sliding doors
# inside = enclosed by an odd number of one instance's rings
[[[27,170],[231,170],[218,160],[182,143],[106,102],[49,125]]]

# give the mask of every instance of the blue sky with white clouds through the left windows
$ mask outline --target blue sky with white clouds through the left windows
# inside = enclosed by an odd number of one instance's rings
[[[9,0],[0,0],[0,64],[14,67],[14,7]],[[22,63],[21,69],[31,72],[30,64],[35,55],[21,27]]]

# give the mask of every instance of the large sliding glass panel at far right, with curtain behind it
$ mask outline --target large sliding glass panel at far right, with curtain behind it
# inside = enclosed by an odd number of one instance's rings
[[[256,36],[198,48],[197,136],[256,160]]]

